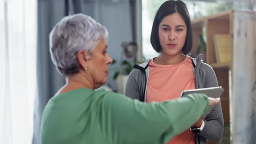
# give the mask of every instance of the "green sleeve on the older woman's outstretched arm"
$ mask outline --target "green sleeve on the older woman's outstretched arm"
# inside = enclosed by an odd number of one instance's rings
[[[205,94],[189,94],[162,103],[142,103],[107,93],[97,104],[101,131],[110,143],[166,143],[202,117],[208,109]]]

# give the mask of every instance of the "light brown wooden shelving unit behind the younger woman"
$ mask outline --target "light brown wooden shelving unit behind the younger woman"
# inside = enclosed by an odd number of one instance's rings
[[[193,53],[193,57],[196,57],[196,50],[198,47],[198,39],[199,35],[203,34],[203,29],[206,31],[206,63],[210,64],[211,67],[214,69],[219,86],[222,86],[225,91],[222,94],[221,102],[222,102],[222,109],[223,109],[223,116],[224,116],[224,124],[225,130],[222,142],[220,143],[230,143],[230,86],[229,83],[230,74],[232,74],[232,61],[233,56],[232,53],[234,50],[234,33],[236,34],[234,29],[234,25],[237,27],[237,19],[241,19],[237,17],[237,15],[246,15],[251,14],[252,11],[241,11],[241,10],[227,10],[223,11],[222,13],[214,14],[207,17],[202,17],[200,19],[192,21],[192,29],[193,29],[193,48],[191,52]],[[255,13],[255,12],[254,12]],[[241,19],[242,20],[242,19]],[[251,22],[248,19],[246,21]],[[213,45],[213,35],[214,34],[230,34],[231,35],[231,62],[230,63],[217,63],[214,45]],[[207,143],[216,143],[212,141],[207,141]]]

